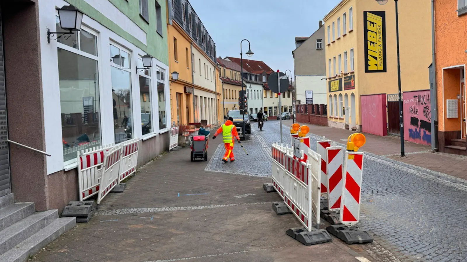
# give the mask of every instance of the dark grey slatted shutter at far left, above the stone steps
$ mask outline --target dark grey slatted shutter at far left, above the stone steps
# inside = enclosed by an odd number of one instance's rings
[[[3,28],[0,18],[0,197],[10,193],[10,164],[8,154],[7,98],[3,62]]]

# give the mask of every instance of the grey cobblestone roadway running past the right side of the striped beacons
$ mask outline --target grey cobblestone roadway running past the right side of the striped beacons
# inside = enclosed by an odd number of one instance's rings
[[[280,140],[278,122],[264,130],[269,144]],[[366,153],[358,225],[375,242],[362,248],[375,261],[467,261],[466,198],[463,179]]]

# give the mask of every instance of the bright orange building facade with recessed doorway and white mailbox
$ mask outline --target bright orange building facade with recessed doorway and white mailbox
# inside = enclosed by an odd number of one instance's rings
[[[434,3],[438,149],[467,155],[467,5],[458,0]]]

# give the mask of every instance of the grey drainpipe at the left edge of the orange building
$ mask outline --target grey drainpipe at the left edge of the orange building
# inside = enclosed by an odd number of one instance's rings
[[[435,0],[432,0],[432,70],[433,85],[430,87],[430,102],[432,115],[432,151],[438,151],[438,97],[436,85],[436,63],[435,63]]]

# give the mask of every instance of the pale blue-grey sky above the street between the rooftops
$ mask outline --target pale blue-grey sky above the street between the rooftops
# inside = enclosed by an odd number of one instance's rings
[[[217,56],[240,57],[248,39],[251,59],[293,75],[295,36],[310,36],[340,0],[189,0],[216,43]],[[243,54],[248,42],[243,41]],[[243,58],[248,57],[243,55]],[[287,72],[287,75],[289,73]]]

